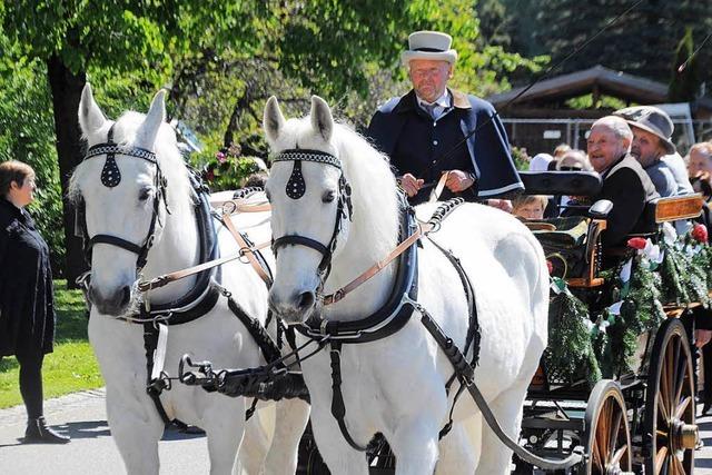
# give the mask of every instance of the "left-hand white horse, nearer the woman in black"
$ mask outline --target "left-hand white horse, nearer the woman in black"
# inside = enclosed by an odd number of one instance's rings
[[[142,246],[152,234],[152,246],[147,250],[142,268],[145,279],[199,264],[197,195],[177,148],[175,132],[165,123],[164,92],[156,95],[146,116],[126,112],[115,122],[105,118],[87,85],[79,107],[79,122],[90,147],[113,142],[129,150],[116,154],[117,171],[110,166],[106,150],[90,149],[96,150],[96,155],[87,158],[72,175],[70,195],[75,201],[81,199],[86,205],[88,236],[111,236]],[[112,139],[108,139],[109,133]],[[157,165],[145,159],[141,149],[155,152]],[[165,179],[165,186],[160,177]],[[238,228],[261,234],[256,239],[268,238],[269,226],[260,226],[259,220],[268,221],[268,216],[234,217]],[[218,229],[220,255],[235,255],[239,249],[237,243],[224,226],[217,220],[214,222]],[[137,254],[140,253],[125,247],[106,240],[93,245],[88,291],[93,304],[89,339],[107,386],[111,435],[127,472],[158,474],[158,441],[165,424],[146,392],[144,326],[116,318],[131,315],[139,301],[135,284]],[[273,260],[271,256],[267,257]],[[247,315],[264,325],[267,287],[255,270],[235,260],[222,265],[220,273],[220,285],[231,293]],[[196,279],[191,276],[150,290],[146,298],[154,307],[174,303],[188,294]],[[169,376],[177,376],[178,363],[185,353],[210,359],[221,367],[254,367],[265,363],[257,344],[228,309],[222,296],[207,314],[168,328],[164,370]],[[274,329],[274,325],[270,328]],[[200,387],[175,384],[170,390],[162,392],[160,402],[169,418],[179,418],[206,431],[211,474],[229,474],[240,467],[248,473],[258,473],[263,463],[267,473],[294,474],[298,441],[308,418],[305,403],[298,399],[279,403],[276,417],[271,408],[258,410],[257,414],[273,412],[273,424],[276,418],[278,425],[273,426],[275,443],[269,447],[269,427],[263,429],[257,420],[260,417],[253,417],[247,424],[240,463],[236,464],[245,433],[246,405],[251,399],[246,402],[243,397],[230,398],[209,394]],[[261,418],[266,419],[266,416],[269,414],[263,414]]]

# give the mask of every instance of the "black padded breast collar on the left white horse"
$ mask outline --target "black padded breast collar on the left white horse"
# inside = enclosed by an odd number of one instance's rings
[[[200,263],[217,259],[219,247],[212,215],[210,214],[209,197],[200,180],[190,174],[190,184],[195,190],[198,202],[195,205],[198,238],[200,241]],[[219,296],[220,267],[204,270],[197,275],[192,288],[176,300],[165,304],[141,304],[139,315],[141,318],[164,316],[167,325],[180,325],[192,321],[215,307]]]

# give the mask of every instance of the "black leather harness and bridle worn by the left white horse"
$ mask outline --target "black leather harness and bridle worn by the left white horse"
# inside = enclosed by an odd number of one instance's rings
[[[157,189],[157,195],[154,198],[154,209],[147,237],[141,245],[134,244],[126,239],[111,236],[111,235],[95,235],[90,239],[87,239],[87,226],[83,217],[83,202],[77,209],[77,234],[82,237],[85,243],[85,256],[88,261],[91,263],[91,249],[93,245],[102,243],[111,246],[120,247],[138,255],[137,260],[137,275],[146,265],[148,258],[148,251],[154,244],[154,236],[156,231],[156,222],[159,221],[159,206],[160,201],[164,201],[166,210],[168,210],[168,204],[166,201],[166,188],[167,181],[162,176],[156,155],[152,151],[138,148],[138,147],[125,147],[118,146],[112,140],[113,126],[109,129],[107,142],[95,145],[88,149],[85,160],[106,155],[106,161],[101,170],[101,182],[106,187],[112,188],[119,185],[121,180],[121,174],[116,162],[116,155],[123,155],[128,157],[140,158],[147,160],[156,166],[156,174],[154,178],[154,185]],[[224,261],[233,260],[233,258],[219,259],[219,248],[217,241],[217,232],[212,222],[212,215],[210,211],[210,205],[208,196],[200,179],[190,174],[190,182],[192,191],[195,194],[194,201],[195,215],[199,235],[199,260],[206,263],[204,265],[195,266],[191,271],[186,275],[197,274],[196,284],[192,288],[179,297],[178,299],[165,304],[151,305],[150,300],[146,298],[140,306],[137,314],[117,317],[128,323],[144,325],[144,349],[146,352],[146,390],[154,402],[158,414],[164,423],[169,424],[172,420],[168,417],[166,409],[160,402],[160,394],[164,389],[171,388],[171,380],[164,372],[164,364],[166,357],[166,346],[168,339],[168,327],[170,325],[181,325],[189,321],[194,321],[197,318],[206,315],[210,311],[220,296],[227,299],[228,308],[246,327],[247,331],[255,339],[265,360],[275,362],[280,356],[280,346],[273,340],[267,334],[265,327],[261,326],[257,318],[250,317],[247,313],[235,301],[230,293],[222,288],[218,281],[220,280],[219,264]],[[240,256],[247,256],[247,259],[253,267],[259,267],[259,275],[265,280],[267,286],[271,283],[271,270],[267,266],[264,256],[258,249],[249,241],[249,238],[239,232],[233,226],[229,216],[226,219],[220,220],[236,237],[240,246]],[[208,263],[209,261],[209,263]],[[184,275],[182,277],[185,277]],[[141,283],[144,288],[139,285],[141,291],[150,290],[152,288],[161,287],[162,285],[172,281],[174,279],[161,276],[158,281]],[[81,278],[81,285],[86,289],[89,287],[89,273],[85,274]],[[155,279],[156,280],[156,279]],[[279,324],[278,324],[279,328]],[[279,334],[279,330],[278,330]],[[254,413],[255,407],[248,410],[247,417]]]

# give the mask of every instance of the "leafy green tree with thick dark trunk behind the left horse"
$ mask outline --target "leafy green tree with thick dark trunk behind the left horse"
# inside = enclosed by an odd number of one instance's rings
[[[69,175],[82,157],[77,111],[89,68],[122,75],[141,70],[142,79],[156,89],[168,77],[171,56],[200,44],[207,32],[218,39],[235,34],[251,39],[251,20],[264,10],[261,2],[243,2],[227,8],[218,2],[80,2],[17,0],[0,10],[2,28],[19,60],[39,60],[52,97],[57,156],[62,196]],[[238,40],[233,43],[238,43]],[[247,41],[245,41],[247,42]],[[66,276],[69,284],[83,271],[81,243],[73,236],[75,217],[63,202],[67,246]]]

